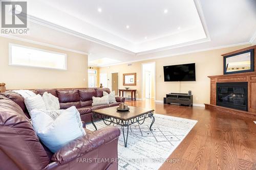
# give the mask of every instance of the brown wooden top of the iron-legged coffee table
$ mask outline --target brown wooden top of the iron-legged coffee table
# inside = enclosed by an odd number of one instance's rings
[[[154,111],[153,109],[146,109],[142,107],[134,107],[134,106],[128,106],[128,107],[130,108],[129,111],[118,111],[116,110],[118,106],[116,106],[116,107],[108,107],[104,109],[93,110],[93,112],[102,114],[102,115],[107,115],[110,117],[119,118],[121,120],[129,120],[131,118]]]

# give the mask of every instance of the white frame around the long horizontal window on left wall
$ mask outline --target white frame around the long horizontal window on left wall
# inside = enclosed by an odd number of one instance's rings
[[[65,56],[65,68],[62,69],[62,68],[32,66],[32,65],[24,65],[24,64],[13,64],[13,63],[12,63],[12,46],[19,46],[19,47],[24,47],[24,48],[32,49],[32,50],[37,50],[37,51],[42,51],[42,52],[48,52],[48,53],[54,53],[54,54],[64,55],[64,56]],[[48,51],[48,50],[42,50],[42,49],[40,49],[40,48],[34,48],[34,47],[30,47],[30,46],[24,46],[24,45],[9,43],[9,65],[25,66],[25,67],[32,67],[32,68],[45,68],[45,69],[67,70],[67,54],[65,54],[65,53],[58,53],[58,52],[53,52],[53,51]]]

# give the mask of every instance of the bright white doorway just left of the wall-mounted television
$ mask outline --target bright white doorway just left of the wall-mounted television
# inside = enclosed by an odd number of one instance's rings
[[[156,62],[142,64],[142,96],[144,99],[156,98]]]

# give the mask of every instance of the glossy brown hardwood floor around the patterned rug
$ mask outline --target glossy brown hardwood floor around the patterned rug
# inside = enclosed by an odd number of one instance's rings
[[[205,110],[203,107],[164,105],[154,101],[126,101],[154,113],[198,120],[163,169],[256,169],[256,124],[252,118]]]

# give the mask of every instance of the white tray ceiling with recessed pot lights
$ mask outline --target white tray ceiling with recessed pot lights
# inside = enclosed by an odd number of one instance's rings
[[[139,61],[256,37],[255,0],[29,0],[28,14],[30,34],[16,37],[88,53],[89,61]]]

